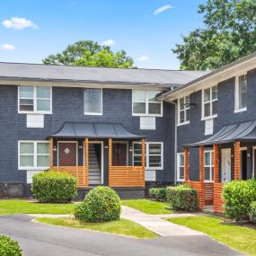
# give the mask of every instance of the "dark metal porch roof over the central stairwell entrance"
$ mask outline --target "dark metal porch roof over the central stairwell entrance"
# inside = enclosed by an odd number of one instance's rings
[[[51,137],[66,138],[143,138],[128,131],[121,123],[65,122]]]

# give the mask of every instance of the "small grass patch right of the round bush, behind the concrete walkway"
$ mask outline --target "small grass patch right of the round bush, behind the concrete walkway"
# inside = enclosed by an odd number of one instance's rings
[[[135,208],[146,214],[172,214],[170,204],[155,202],[147,199],[123,200],[122,205]]]

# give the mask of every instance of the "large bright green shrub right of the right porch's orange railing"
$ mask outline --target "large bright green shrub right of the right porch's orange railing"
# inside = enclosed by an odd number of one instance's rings
[[[256,181],[232,181],[223,190],[226,216],[242,220],[249,218],[252,201],[256,201]]]

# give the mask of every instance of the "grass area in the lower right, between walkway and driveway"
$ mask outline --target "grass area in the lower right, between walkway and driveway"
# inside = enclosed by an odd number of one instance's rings
[[[224,223],[217,217],[188,216],[166,218],[168,221],[201,231],[236,251],[256,255],[256,230]]]

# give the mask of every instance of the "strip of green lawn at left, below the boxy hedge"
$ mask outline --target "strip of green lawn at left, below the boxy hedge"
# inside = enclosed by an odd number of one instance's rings
[[[27,200],[0,200],[0,215],[10,214],[72,214],[75,204],[40,204]]]

